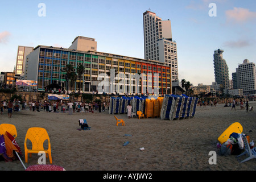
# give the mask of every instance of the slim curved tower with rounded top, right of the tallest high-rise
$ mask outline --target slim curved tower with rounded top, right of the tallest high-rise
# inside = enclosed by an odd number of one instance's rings
[[[214,75],[217,84],[221,84],[224,89],[229,89],[229,68],[226,60],[223,59],[222,53],[224,51],[217,49],[213,54]]]

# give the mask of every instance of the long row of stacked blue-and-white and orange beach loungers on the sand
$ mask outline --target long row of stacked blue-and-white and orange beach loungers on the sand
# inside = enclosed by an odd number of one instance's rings
[[[161,119],[192,118],[196,112],[198,98],[182,95],[164,95],[164,97],[111,97],[109,114],[127,113],[127,105],[131,104],[132,113],[142,111],[146,118]]]

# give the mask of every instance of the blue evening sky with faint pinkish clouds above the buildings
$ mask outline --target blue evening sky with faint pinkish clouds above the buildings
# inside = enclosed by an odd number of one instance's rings
[[[171,20],[180,81],[211,85],[218,48],[230,80],[243,60],[256,63],[255,0],[23,0],[0,1],[0,72],[14,70],[18,46],[68,48],[76,36],[96,39],[99,52],[144,59],[148,10]]]

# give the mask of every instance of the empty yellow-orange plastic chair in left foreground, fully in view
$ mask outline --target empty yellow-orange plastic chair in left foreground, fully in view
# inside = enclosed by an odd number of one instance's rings
[[[27,148],[27,139],[31,141],[32,149]],[[44,146],[43,146],[45,140],[48,140],[47,150],[44,150]],[[30,154],[30,157],[31,157],[32,153],[38,154],[39,151],[44,151],[46,152],[46,154],[49,155],[49,162],[52,164],[51,143],[50,143],[49,135],[46,129],[43,129],[42,127],[31,127],[30,129],[28,129],[25,142],[24,142],[24,148],[25,148],[26,163],[27,163],[28,154]]]

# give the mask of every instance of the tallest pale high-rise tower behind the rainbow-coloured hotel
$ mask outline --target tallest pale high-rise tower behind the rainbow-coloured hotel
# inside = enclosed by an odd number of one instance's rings
[[[171,67],[172,81],[178,80],[177,46],[172,40],[171,21],[155,13],[143,13],[144,59],[156,60]]]

